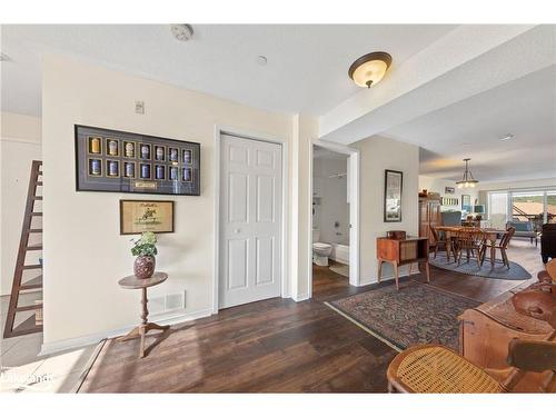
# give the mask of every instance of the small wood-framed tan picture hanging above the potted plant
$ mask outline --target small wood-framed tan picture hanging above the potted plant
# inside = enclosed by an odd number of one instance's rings
[[[120,200],[120,235],[173,232],[173,201]]]

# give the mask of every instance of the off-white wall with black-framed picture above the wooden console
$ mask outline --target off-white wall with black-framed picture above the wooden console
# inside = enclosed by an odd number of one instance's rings
[[[374,136],[351,145],[361,152],[360,168],[360,277],[361,285],[377,280],[376,238],[387,230],[418,235],[419,148]],[[401,221],[384,221],[385,169],[404,172]],[[390,269],[385,268],[385,277]]]

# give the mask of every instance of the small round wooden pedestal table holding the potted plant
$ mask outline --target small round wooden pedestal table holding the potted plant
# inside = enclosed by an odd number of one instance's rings
[[[168,279],[168,274],[166,272],[155,272],[152,277],[150,278],[138,278],[135,275],[130,275],[129,277],[122,278],[118,281],[121,288],[126,289],[140,289],[141,290],[141,306],[142,306],[142,311],[141,311],[141,324],[133,328],[130,332],[128,332],[126,336],[122,336],[118,338],[118,341],[126,341],[126,340],[131,340],[136,339],[138,337],[141,338],[141,342],[139,345],[139,358],[145,357],[145,335],[149,330],[167,330],[170,328],[170,326],[159,326],[155,322],[149,322],[148,317],[149,317],[149,310],[147,309],[147,302],[149,300],[147,299],[147,288],[148,287],[153,287],[156,285],[159,285]]]

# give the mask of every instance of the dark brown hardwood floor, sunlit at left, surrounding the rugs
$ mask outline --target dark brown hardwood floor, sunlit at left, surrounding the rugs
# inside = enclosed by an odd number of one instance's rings
[[[534,276],[543,267],[538,250],[524,242],[513,245],[509,257]],[[480,301],[524,284],[431,272],[433,285]],[[108,340],[80,391],[385,393],[396,351],[322,302],[369,289],[315,267],[311,300],[274,298],[172,326],[148,337],[143,359],[138,340]]]

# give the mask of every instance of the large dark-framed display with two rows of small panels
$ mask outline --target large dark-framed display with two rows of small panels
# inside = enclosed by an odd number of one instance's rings
[[[75,126],[76,190],[200,195],[200,145]]]

